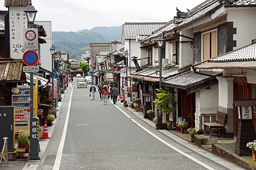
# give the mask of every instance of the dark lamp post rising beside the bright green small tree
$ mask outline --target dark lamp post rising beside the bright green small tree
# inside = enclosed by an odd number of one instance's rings
[[[159,47],[159,89],[161,88],[161,84],[162,84],[162,46],[163,46],[163,37],[159,36],[157,39],[157,44]],[[161,112],[157,112],[157,123],[162,123],[162,113]]]

